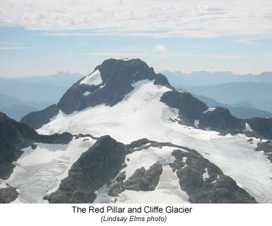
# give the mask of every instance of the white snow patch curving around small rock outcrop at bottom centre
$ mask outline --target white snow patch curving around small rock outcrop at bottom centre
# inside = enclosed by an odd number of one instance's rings
[[[172,172],[169,163],[174,161],[171,153],[176,147],[149,147],[127,155],[127,167],[122,169],[127,179],[142,166],[148,170],[157,161],[162,164],[160,182],[154,191],[136,192],[125,190],[117,197],[117,203],[188,203],[188,195],[181,190],[179,178]]]

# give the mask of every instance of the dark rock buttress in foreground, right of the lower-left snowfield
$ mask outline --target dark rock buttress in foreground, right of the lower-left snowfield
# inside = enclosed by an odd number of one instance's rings
[[[110,183],[122,168],[127,147],[103,136],[73,164],[59,189],[45,199],[50,203],[92,203],[94,193]]]

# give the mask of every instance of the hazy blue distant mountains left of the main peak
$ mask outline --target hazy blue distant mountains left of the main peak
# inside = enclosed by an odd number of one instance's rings
[[[61,95],[82,78],[82,74],[58,72],[50,76],[0,78],[0,112],[20,119],[57,102]]]

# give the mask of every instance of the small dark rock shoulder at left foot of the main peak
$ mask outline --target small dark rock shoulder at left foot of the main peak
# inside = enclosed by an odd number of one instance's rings
[[[22,117],[20,122],[27,124],[31,128],[37,129],[44,124],[48,124],[50,119],[58,114],[58,111],[57,105],[51,105],[39,112],[30,112],[25,117]]]

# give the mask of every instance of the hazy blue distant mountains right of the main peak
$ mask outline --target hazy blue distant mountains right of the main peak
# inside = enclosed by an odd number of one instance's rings
[[[193,72],[186,74],[164,71],[162,74],[169,79],[174,87],[185,88],[195,95],[212,98],[216,102],[220,102],[221,105],[235,107],[238,102],[248,102],[251,106],[236,107],[261,109],[262,112],[254,111],[254,114],[258,114],[259,117],[265,113],[263,111],[272,112],[272,72],[264,72],[259,75],[242,75],[231,72]],[[207,105],[209,104],[207,103]],[[248,112],[245,110],[239,109],[239,112],[247,114]]]

